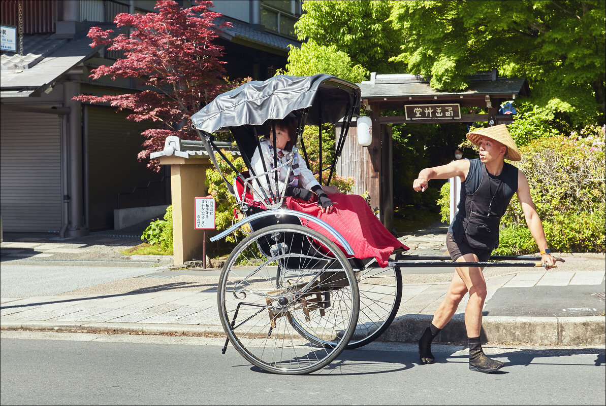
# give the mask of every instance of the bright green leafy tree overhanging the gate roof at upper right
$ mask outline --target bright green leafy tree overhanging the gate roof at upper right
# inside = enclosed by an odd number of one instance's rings
[[[407,41],[393,58],[431,87],[461,90],[468,75],[498,68],[525,76],[539,96],[558,97],[588,122],[605,111],[602,1],[402,1],[392,20]],[[536,97],[536,96],[535,96]],[[587,111],[587,100],[593,106]],[[545,105],[545,100],[541,103]],[[589,114],[589,116],[588,116]]]

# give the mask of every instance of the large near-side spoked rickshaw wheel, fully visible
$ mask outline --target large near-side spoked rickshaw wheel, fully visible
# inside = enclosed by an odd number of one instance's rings
[[[347,347],[359,291],[336,244],[304,226],[277,224],[248,235],[231,252],[219,278],[218,307],[229,341],[251,364],[305,374]]]

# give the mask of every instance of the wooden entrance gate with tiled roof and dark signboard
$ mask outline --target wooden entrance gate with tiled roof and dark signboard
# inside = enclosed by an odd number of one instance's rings
[[[500,105],[530,93],[524,77],[499,77],[496,70],[471,75],[465,90],[441,91],[429,83],[429,78],[413,74],[376,73],[358,83],[362,106],[372,120],[372,142],[361,147],[354,125],[342,151],[347,159],[337,162],[336,172],[356,179],[353,193],[370,194],[370,205],[387,229],[393,227],[394,209],[391,124],[511,123],[511,114],[499,114]],[[470,108],[482,108],[487,113],[465,114]],[[386,113],[402,110],[404,116]]]

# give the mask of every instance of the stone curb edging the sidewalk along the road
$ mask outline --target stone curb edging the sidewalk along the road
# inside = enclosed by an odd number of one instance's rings
[[[396,318],[379,341],[417,342],[431,322],[431,315]],[[153,323],[78,323],[70,321],[2,321],[1,330],[82,330],[87,332],[184,334],[225,336],[222,326]],[[485,316],[482,342],[542,345],[606,345],[606,318]],[[455,316],[436,337],[436,342],[466,342],[465,320]]]

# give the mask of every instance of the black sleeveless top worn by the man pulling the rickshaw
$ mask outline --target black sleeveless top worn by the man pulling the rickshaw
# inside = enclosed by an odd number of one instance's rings
[[[470,160],[457,212],[448,228],[454,241],[483,250],[498,247],[501,217],[516,191],[518,168],[504,163],[501,174],[494,176],[479,159]]]

